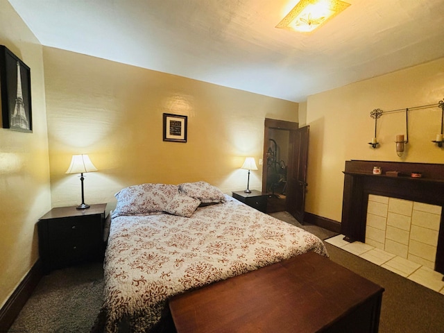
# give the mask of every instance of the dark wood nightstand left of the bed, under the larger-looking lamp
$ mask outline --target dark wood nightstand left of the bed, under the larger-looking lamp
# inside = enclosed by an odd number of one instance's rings
[[[44,273],[79,262],[103,260],[105,203],[85,210],[53,208],[37,224]]]

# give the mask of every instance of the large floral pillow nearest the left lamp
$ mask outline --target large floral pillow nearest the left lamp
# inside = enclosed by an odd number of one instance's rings
[[[179,194],[176,185],[142,184],[126,187],[114,195],[117,205],[112,217],[163,212],[176,194]]]

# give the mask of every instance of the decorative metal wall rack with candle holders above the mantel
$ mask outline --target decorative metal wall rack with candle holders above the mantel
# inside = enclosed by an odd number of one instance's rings
[[[439,101],[436,104],[429,104],[429,105],[420,105],[420,106],[413,106],[413,108],[404,108],[404,109],[397,109],[397,110],[389,110],[389,111],[383,111],[381,109],[375,109],[372,112],[370,112],[370,117],[375,119],[375,136],[372,138],[371,142],[368,142],[372,146],[372,148],[377,148],[379,146],[379,142],[377,142],[377,135],[376,135],[376,129],[377,129],[377,119],[381,118],[384,114],[390,114],[395,112],[405,112],[405,127],[406,127],[406,135],[404,139],[404,135],[396,135],[396,152],[399,156],[402,155],[402,152],[404,151],[404,144],[409,143],[409,111],[412,110],[421,110],[421,109],[427,109],[427,108],[440,108],[441,109],[441,132],[436,135],[436,139],[432,142],[436,144],[438,147],[442,147],[444,143],[443,139],[443,120],[444,120],[444,99],[443,101]]]

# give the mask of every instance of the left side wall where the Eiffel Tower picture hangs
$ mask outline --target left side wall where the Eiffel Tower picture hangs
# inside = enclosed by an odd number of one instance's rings
[[[31,67],[33,112],[33,133],[0,128],[1,307],[37,260],[35,223],[51,198],[42,46],[6,0],[0,0],[0,44]]]

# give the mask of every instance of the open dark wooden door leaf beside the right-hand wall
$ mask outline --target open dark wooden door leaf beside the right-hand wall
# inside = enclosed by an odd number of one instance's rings
[[[303,223],[305,214],[305,192],[307,189],[309,126],[298,128],[290,133],[291,162],[287,176],[286,210],[299,223]]]

